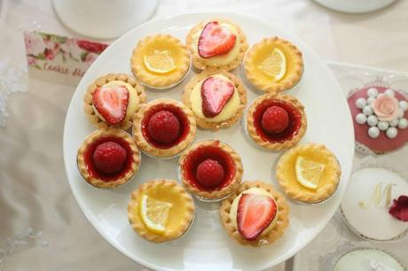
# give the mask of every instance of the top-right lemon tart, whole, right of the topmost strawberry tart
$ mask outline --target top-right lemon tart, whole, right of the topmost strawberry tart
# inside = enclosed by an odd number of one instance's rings
[[[244,70],[257,89],[265,92],[291,89],[302,78],[302,52],[279,37],[264,38],[248,50]]]

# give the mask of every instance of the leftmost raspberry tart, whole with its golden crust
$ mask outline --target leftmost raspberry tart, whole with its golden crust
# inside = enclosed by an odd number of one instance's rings
[[[103,128],[87,136],[76,157],[79,172],[91,185],[113,189],[128,182],[140,166],[133,138],[121,129]]]

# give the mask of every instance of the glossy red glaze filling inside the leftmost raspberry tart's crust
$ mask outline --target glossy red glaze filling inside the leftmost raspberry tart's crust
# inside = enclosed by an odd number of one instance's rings
[[[122,164],[122,168],[120,171],[118,172],[114,172],[114,169],[117,168],[109,168],[107,169],[106,172],[106,168],[104,171],[100,170],[99,168],[102,166],[100,164],[100,160],[97,162],[94,160],[95,155],[97,157],[100,158],[100,156],[105,156],[107,153],[100,153],[98,154],[98,152],[100,151],[100,148],[98,148],[99,146],[102,145],[102,151],[105,147],[103,147],[103,143],[117,143],[121,146],[122,149],[124,149],[126,151],[126,160],[125,162]],[[112,146],[112,145],[111,145]],[[116,147],[114,147],[116,148]],[[97,151],[99,149],[99,151]],[[122,150],[121,149],[121,150]],[[114,155],[114,154],[119,154],[118,159],[122,160],[123,159],[123,154],[122,151],[118,151],[119,148],[115,151],[108,151],[109,154]],[[95,153],[97,152],[97,153]],[[88,172],[90,173],[91,176],[98,178],[104,182],[114,182],[119,178],[122,178],[130,169],[132,163],[133,163],[133,152],[130,149],[130,145],[128,142],[126,142],[124,139],[122,139],[121,137],[117,137],[117,136],[106,136],[106,137],[101,137],[98,138],[97,140],[95,140],[93,143],[90,143],[88,145],[88,147],[86,148],[84,154],[84,161],[85,161],[85,165],[87,167]],[[98,160],[98,158],[97,158]],[[108,162],[109,160],[106,159],[106,164],[109,164]],[[97,163],[96,163],[97,162]],[[97,166],[98,164],[98,166]],[[118,163],[119,164],[119,163]],[[112,169],[112,172],[109,173],[109,170]]]

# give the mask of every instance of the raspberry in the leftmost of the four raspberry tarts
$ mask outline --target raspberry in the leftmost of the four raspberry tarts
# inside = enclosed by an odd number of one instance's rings
[[[128,158],[128,153],[120,144],[113,141],[101,143],[93,152],[93,163],[103,173],[121,172]]]

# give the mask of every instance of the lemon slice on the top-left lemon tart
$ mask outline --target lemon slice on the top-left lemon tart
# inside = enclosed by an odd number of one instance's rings
[[[154,50],[153,55],[145,56],[145,66],[157,74],[167,74],[176,68],[169,50]]]

